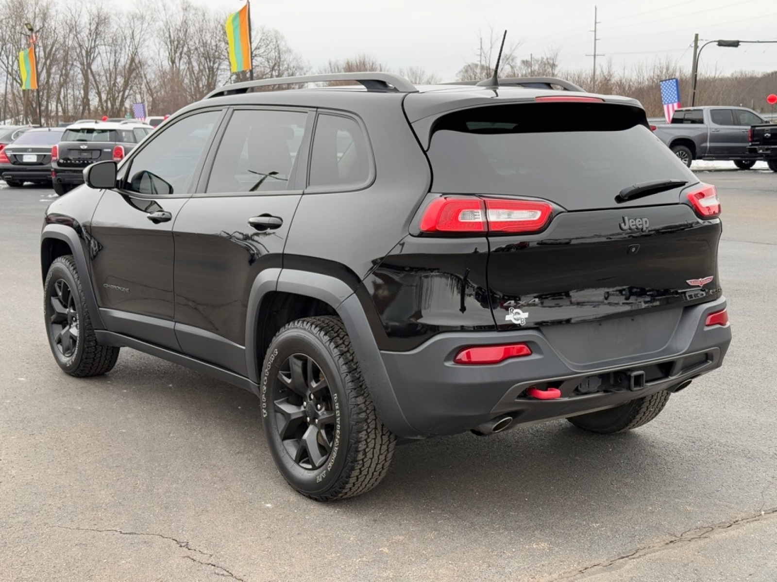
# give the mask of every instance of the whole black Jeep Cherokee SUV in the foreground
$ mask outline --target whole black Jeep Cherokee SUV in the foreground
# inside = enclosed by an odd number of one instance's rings
[[[251,390],[321,501],[398,441],[652,420],[730,342],[715,189],[633,99],[500,84],[249,81],[89,166],[42,234],[57,363],[125,346]]]

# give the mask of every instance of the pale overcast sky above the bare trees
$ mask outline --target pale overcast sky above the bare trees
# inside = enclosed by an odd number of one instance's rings
[[[243,4],[192,2],[219,11]],[[520,58],[558,49],[562,68],[591,68],[594,5],[598,53],[616,68],[671,57],[689,69],[694,33],[706,40],[777,40],[775,0],[252,0],[251,12],[255,25],[280,30],[314,69],[364,52],[392,69],[417,66],[453,80],[477,61],[479,33],[487,36],[490,26],[507,29],[508,43],[521,43]],[[709,45],[700,67],[775,71],[777,43]]]

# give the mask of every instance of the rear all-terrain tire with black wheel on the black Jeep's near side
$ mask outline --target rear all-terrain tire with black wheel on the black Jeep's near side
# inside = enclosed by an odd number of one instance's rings
[[[260,390],[270,452],[301,494],[315,501],[354,497],[388,472],[396,439],[378,419],[338,318],[282,327],[267,350]]]

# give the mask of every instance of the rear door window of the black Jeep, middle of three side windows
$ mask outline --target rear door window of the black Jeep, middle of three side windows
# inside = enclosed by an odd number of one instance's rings
[[[235,111],[206,192],[287,190],[307,119],[307,113],[294,111]]]

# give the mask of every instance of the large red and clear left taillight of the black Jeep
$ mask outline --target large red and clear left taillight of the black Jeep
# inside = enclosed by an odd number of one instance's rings
[[[553,207],[535,200],[437,198],[421,217],[421,232],[531,233],[542,230]]]

